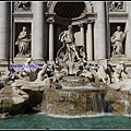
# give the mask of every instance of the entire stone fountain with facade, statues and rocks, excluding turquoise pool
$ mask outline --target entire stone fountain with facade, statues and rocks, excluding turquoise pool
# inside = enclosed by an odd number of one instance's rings
[[[48,8],[44,9],[44,14],[43,3]],[[102,8],[105,3],[109,9],[106,19],[110,23],[105,22],[105,9]],[[0,2],[0,10],[5,11],[7,4],[10,2]],[[10,52],[9,64],[4,64],[4,68],[1,64],[0,117],[37,112],[63,117],[98,114],[130,116],[131,25],[127,20],[126,23],[118,22],[119,12],[129,11],[129,7],[124,9],[126,5],[123,1],[12,2],[11,22],[15,32],[12,35],[13,46],[10,47],[14,52]],[[62,12],[62,8],[67,12],[69,8],[71,14]],[[33,11],[34,17],[27,11],[31,14]],[[126,16],[130,20],[131,13],[128,13],[129,17],[123,12],[122,21]],[[0,25],[2,28],[7,26],[4,15]],[[32,21],[33,28],[23,21]],[[41,21],[48,28],[46,36]],[[5,39],[3,32],[0,32],[2,43]],[[1,47],[0,55],[4,58],[4,46]],[[49,50],[46,50],[47,47]],[[40,60],[43,49],[49,55]]]

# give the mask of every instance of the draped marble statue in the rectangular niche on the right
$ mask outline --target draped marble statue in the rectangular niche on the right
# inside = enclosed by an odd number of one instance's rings
[[[123,33],[121,32],[121,26],[117,26],[117,31],[111,36],[112,56],[123,53],[122,43],[126,38],[127,33],[128,31]]]

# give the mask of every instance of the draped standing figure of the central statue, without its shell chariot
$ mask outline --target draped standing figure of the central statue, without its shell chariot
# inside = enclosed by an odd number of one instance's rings
[[[74,34],[72,33],[72,25],[69,25],[68,28],[69,28],[68,31],[63,31],[59,35],[59,40],[61,43],[63,43],[63,46],[67,49],[63,59],[64,60],[69,59],[70,61],[74,61],[74,58],[73,58],[73,52],[74,52],[74,57],[76,57],[76,59],[79,60],[80,57],[79,57],[79,52],[76,50]]]

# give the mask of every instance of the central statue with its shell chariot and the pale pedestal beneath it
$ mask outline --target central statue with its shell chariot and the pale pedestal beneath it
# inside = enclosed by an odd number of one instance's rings
[[[68,26],[68,31],[63,31],[59,35],[62,47],[57,52],[56,62],[68,70],[68,74],[76,74],[86,63],[84,56],[84,47],[76,46],[72,25]]]

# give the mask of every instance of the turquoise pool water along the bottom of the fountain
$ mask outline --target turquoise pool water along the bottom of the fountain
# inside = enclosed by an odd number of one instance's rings
[[[131,116],[61,117],[45,114],[0,119],[0,129],[131,129]]]

